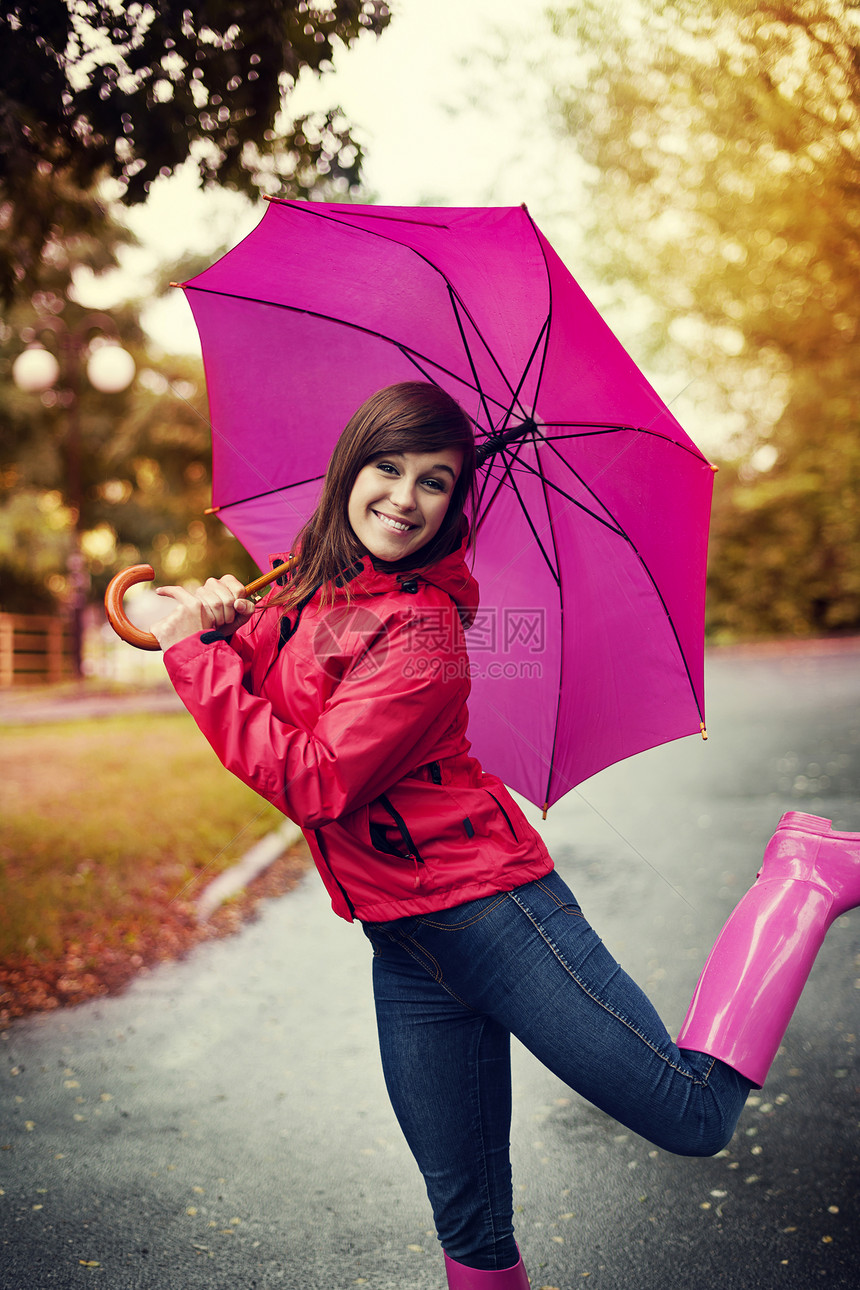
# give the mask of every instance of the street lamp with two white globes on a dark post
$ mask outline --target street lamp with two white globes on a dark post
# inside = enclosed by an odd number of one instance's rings
[[[37,341],[41,333],[55,339],[57,353]],[[116,326],[106,313],[94,313],[68,328],[55,316],[40,319],[24,334],[30,344],[12,365],[12,379],[23,393],[55,390],[67,412],[66,493],[72,510],[72,550],[68,556],[71,588],[72,658],[75,676],[83,675],[84,608],[89,579],[81,550],[83,489],[80,468],[80,392],[86,379],[99,393],[121,393],[134,381],[134,359],[116,341]],[[101,343],[98,343],[101,341]]]

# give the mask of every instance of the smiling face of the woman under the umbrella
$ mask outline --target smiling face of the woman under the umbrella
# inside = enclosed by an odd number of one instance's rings
[[[347,516],[376,560],[414,555],[438,533],[463,464],[459,448],[383,453],[358,471]]]

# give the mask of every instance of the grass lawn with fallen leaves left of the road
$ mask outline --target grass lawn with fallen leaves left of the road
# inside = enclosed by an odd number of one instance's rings
[[[193,899],[282,823],[186,713],[5,728],[0,818],[0,996],[40,980],[57,1002],[233,930]]]

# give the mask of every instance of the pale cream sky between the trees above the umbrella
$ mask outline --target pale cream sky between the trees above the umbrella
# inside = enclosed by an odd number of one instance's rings
[[[523,63],[526,40],[545,28],[545,8],[547,0],[392,0],[383,35],[339,49],[334,72],[303,79],[291,107],[297,115],[333,104],[346,111],[365,146],[364,178],[375,201],[525,201],[563,255],[565,241],[575,241],[575,221],[567,218],[565,237],[565,221],[554,213],[558,194],[551,191],[556,143],[545,81]],[[507,52],[502,93],[490,102],[481,94],[481,68],[500,49]],[[110,308],[144,293],[161,259],[235,245],[260,218],[262,210],[236,194],[201,191],[184,168],[153,184],[144,206],[129,209],[141,246],[125,253],[122,271],[81,284],[79,295]],[[143,320],[160,347],[199,352],[181,292],[150,307]]]

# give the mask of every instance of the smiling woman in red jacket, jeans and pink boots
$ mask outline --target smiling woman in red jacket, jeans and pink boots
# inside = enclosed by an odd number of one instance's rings
[[[388,1093],[451,1290],[526,1290],[513,1238],[516,1035],[667,1151],[712,1155],[761,1086],[826,928],[860,904],[860,835],[789,814],[708,960],[677,1044],[591,929],[504,786],[469,756],[471,424],[431,384],[352,417],[298,562],[161,588],[175,689],[223,764],[300,824],[361,921]]]

